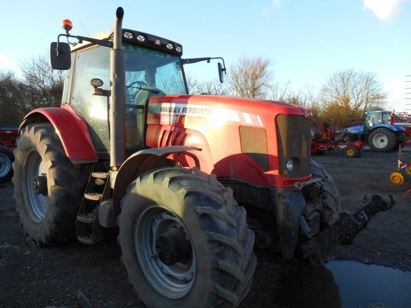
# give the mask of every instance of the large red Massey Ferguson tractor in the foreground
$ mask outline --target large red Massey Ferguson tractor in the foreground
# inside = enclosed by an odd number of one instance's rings
[[[118,8],[114,31],[94,37],[69,34],[65,20],[51,44],[52,67],[67,70],[62,105],[26,115],[13,163],[16,209],[36,244],[94,244],[118,226],[147,306],[236,306],[254,244],[322,265],[393,206],[375,195],[341,214],[334,181],[310,160],[309,110],[189,95],[183,66],[213,58],[182,59],[180,44],[122,29],[122,18]]]

